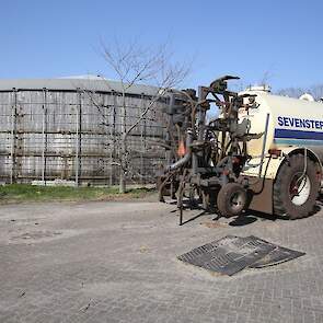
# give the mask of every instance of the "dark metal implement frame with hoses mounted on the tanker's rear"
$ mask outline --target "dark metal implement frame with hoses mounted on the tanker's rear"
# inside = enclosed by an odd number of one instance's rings
[[[266,118],[265,131],[262,134],[250,132],[250,120],[239,120],[239,111],[249,111],[254,107],[254,94],[239,95],[227,89],[227,82],[237,77],[226,76],[217,79],[209,86],[199,86],[198,96],[194,90],[174,93],[170,106],[165,111],[170,115],[169,136],[174,137],[172,129],[178,128],[177,147],[181,137],[186,138],[186,151],[182,158],[170,154],[169,165],[161,172],[159,181],[160,200],[163,195],[177,194],[180,209],[180,226],[183,224],[184,192],[188,192],[191,208],[201,203],[201,208],[208,211],[218,209],[223,216],[241,212],[247,207],[247,196],[252,194],[249,177],[241,176],[242,170],[251,157],[247,154],[246,142],[263,138],[263,152],[261,171],[265,157],[266,132],[269,115]],[[210,99],[211,96],[211,99]],[[249,103],[245,101],[249,100]],[[180,101],[180,104],[176,104]],[[221,116],[207,122],[206,114],[210,104],[216,104]],[[170,149],[169,149],[170,150]],[[259,177],[262,173],[259,174]],[[265,178],[265,176],[264,176]],[[263,178],[263,181],[264,181]],[[234,184],[234,185],[232,185]],[[177,187],[174,189],[173,187]],[[194,198],[198,194],[200,201]],[[235,195],[243,199],[242,207],[228,205]],[[232,195],[232,196],[231,196]],[[228,201],[222,203],[221,196]],[[240,198],[240,200],[241,200]],[[214,199],[214,200],[212,200]],[[231,201],[230,201],[231,203]]]

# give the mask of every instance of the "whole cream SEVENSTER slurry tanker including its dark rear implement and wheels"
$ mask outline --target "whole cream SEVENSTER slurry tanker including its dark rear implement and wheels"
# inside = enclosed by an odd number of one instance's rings
[[[246,209],[289,219],[314,212],[321,188],[323,104],[272,94],[265,88],[209,86],[173,92],[168,115],[166,164],[160,200],[177,199],[224,217]],[[307,99],[307,97],[305,97]],[[211,105],[220,114],[207,118]]]

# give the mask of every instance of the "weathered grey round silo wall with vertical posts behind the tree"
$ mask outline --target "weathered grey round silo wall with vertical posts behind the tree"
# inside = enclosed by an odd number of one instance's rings
[[[93,104],[95,102],[99,106]],[[128,95],[127,126],[149,97]],[[118,184],[122,97],[116,93],[12,90],[0,92],[0,180],[30,183],[61,178],[77,184]],[[164,137],[157,103],[131,131],[128,183],[151,183],[164,150],[149,142]]]

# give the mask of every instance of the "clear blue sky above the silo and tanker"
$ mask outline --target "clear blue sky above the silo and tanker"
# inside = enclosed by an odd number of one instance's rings
[[[323,83],[323,1],[2,1],[0,78],[106,72],[100,39],[171,43],[186,86],[238,74],[274,89]],[[107,71],[108,73],[108,71]]]

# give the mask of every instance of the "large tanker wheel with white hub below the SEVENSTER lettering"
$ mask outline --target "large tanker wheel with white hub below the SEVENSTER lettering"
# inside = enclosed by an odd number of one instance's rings
[[[280,166],[274,182],[274,214],[288,219],[305,218],[313,214],[321,186],[319,165],[304,155],[291,155]]]

